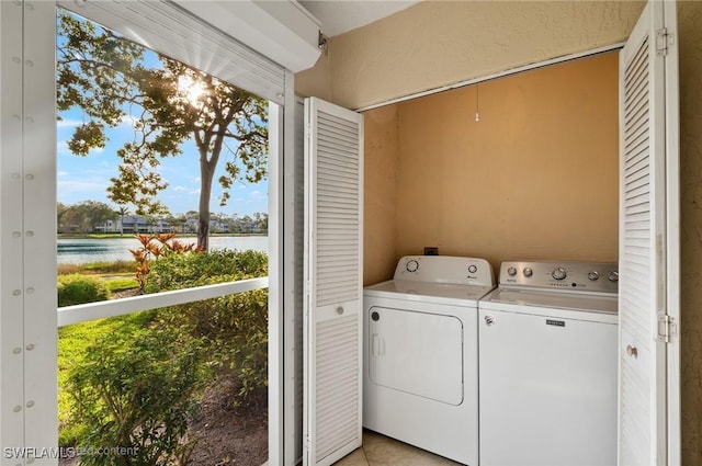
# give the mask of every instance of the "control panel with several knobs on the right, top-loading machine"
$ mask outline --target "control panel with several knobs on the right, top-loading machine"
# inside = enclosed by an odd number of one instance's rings
[[[507,286],[616,293],[616,263],[502,262],[499,284]]]

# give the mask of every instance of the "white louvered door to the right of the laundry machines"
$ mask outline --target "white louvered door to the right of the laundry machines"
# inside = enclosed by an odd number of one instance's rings
[[[620,56],[621,466],[680,461],[677,54],[675,1],[649,1]]]

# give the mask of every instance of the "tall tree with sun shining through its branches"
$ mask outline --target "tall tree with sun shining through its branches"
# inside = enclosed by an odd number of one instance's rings
[[[160,67],[147,67],[145,47],[65,11],[58,34],[58,110],[77,106],[88,118],[68,141],[71,152],[104,148],[105,129],[132,118],[134,139],[117,150],[122,162],[107,197],[134,205],[139,215],[157,215],[166,209],[156,196],[168,185],[158,172],[160,159],[183,155],[183,143],[192,140],[201,175],[197,247],[206,250],[219,159],[230,156],[218,179],[220,205],[235,181],[256,183],[267,175],[268,102],[159,54]]]

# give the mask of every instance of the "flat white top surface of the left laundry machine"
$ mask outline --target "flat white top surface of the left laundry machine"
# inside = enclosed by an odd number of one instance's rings
[[[456,285],[450,283],[414,282],[390,280],[367,286],[365,296],[389,297],[454,305],[476,305],[477,300],[488,294],[492,286]],[[469,303],[466,303],[469,302]]]

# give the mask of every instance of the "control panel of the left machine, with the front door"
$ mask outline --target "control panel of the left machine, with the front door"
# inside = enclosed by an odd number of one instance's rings
[[[405,255],[397,262],[395,280],[495,286],[490,263],[485,259],[451,255]]]

